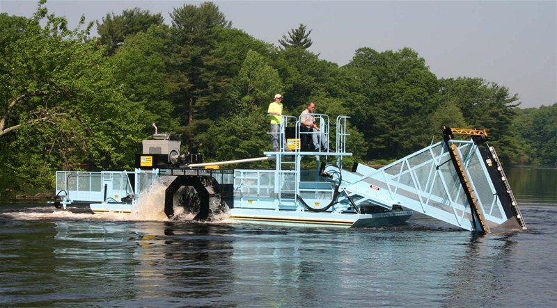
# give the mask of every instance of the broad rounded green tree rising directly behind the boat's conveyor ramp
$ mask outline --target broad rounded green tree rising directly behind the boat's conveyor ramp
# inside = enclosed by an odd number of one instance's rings
[[[409,48],[356,51],[346,65],[361,97],[350,102],[356,127],[370,143],[368,158],[402,157],[427,144],[430,114],[439,105],[437,78]]]

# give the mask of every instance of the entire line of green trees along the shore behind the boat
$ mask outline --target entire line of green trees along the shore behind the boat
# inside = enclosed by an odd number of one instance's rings
[[[260,156],[275,93],[285,114],[313,101],[331,119],[350,115],[352,161],[402,158],[448,126],[487,129],[504,163],[557,164],[557,102],[519,109],[505,86],[439,79],[410,48],[362,47],[339,67],[307,50],[304,24],[277,48],[212,2],[174,8],[171,24],[139,8],[108,13],[96,36],[45,3],[29,18],[0,14],[0,188],[51,188],[55,170],[130,170],[152,123],[207,161]]]

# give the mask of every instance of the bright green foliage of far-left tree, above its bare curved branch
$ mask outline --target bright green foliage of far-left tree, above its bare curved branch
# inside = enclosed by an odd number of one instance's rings
[[[17,35],[12,35],[1,51],[0,67],[0,136],[18,129],[22,124],[39,122],[47,113],[56,115],[58,97],[72,95],[69,74],[77,74],[79,68],[71,65],[73,53],[86,47],[75,40],[65,40],[76,33],[66,28],[65,19],[47,16],[40,3],[35,15],[28,19]],[[3,20],[10,19],[6,15]],[[39,22],[47,18],[41,28]],[[3,32],[6,33],[6,32]],[[81,33],[84,34],[84,33]],[[46,102],[50,104],[45,105]],[[19,122],[22,111],[35,110],[38,117]]]

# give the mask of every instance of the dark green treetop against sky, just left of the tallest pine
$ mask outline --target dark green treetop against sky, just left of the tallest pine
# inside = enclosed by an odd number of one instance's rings
[[[161,13],[152,14],[148,10],[132,8],[124,10],[121,15],[107,13],[102,23],[97,21],[98,44],[107,47],[107,55],[116,52],[125,38],[139,32],[146,32],[150,26],[160,26],[164,22]]]

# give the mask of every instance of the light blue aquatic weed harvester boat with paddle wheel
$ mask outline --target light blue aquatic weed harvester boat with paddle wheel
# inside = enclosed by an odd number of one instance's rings
[[[329,140],[329,117],[320,138]],[[308,148],[299,118],[283,116],[278,152],[236,161],[203,163],[199,154],[180,154],[180,141],[165,133],[143,140],[134,171],[56,172],[56,201],[66,209],[87,202],[95,213],[131,213],[155,181],[166,185],[164,213],[173,218],[176,193],[196,191],[194,220],[224,209],[230,219],[274,225],[375,227],[400,225],[413,212],[474,232],[526,229],[517,202],[487,132],[444,128],[444,139],[383,168],[356,163],[343,168],[347,116],[335,122],[334,152]],[[155,124],[153,124],[155,126]],[[455,134],[469,137],[457,140]],[[315,159],[315,170],[301,168]],[[274,169],[220,169],[221,165],[274,160]]]

